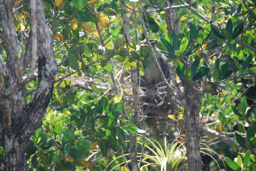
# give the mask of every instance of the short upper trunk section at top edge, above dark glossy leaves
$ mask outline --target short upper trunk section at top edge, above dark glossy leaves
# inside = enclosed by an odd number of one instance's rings
[[[176,4],[176,1],[173,2],[173,5]],[[164,2],[164,6],[168,7],[171,4],[168,1]],[[165,18],[167,24],[167,30],[171,34],[172,32],[176,33],[176,35],[180,34],[180,23],[177,15],[176,9],[169,9],[165,11]]]

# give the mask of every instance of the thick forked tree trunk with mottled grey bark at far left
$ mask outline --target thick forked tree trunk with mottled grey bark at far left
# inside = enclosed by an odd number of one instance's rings
[[[10,7],[9,1],[0,1],[0,15],[5,16],[1,17],[1,25],[3,26],[5,23],[9,23],[8,29],[13,30],[12,8]],[[34,97],[28,105],[22,104],[24,100],[23,87],[25,84],[22,78],[23,72],[17,73],[17,68],[19,68],[20,64],[22,68],[27,65],[26,62],[24,62],[26,59],[18,58],[17,50],[14,49],[16,44],[18,44],[16,33],[14,34],[13,31],[4,29],[4,43],[7,48],[5,69],[8,70],[5,80],[8,82],[9,87],[18,85],[15,92],[4,97],[0,102],[3,117],[2,125],[0,125],[0,144],[4,144],[4,170],[7,171],[27,170],[25,151],[29,144],[30,136],[34,134],[34,130],[44,116],[52,95],[53,83],[57,72],[50,32],[40,0],[36,0],[36,20],[37,37],[40,37],[40,39],[37,40],[39,55],[38,86]],[[9,37],[12,37],[12,39],[9,39]],[[7,45],[10,47],[7,47]],[[30,48],[28,49],[27,54],[29,57]],[[17,80],[21,80],[21,82],[17,82]],[[0,93],[4,91],[5,89],[1,89]]]

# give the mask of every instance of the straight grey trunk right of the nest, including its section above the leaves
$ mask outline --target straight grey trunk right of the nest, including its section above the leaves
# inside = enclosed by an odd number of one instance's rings
[[[165,6],[170,6],[166,1]],[[175,2],[174,2],[175,5]],[[180,30],[180,23],[176,9],[165,11],[167,30],[169,33],[176,33],[178,35]],[[186,59],[184,59],[186,60]],[[185,135],[186,135],[186,149],[187,149],[187,163],[189,171],[201,171],[201,155],[199,145],[199,112],[203,95],[197,91],[196,83],[188,84],[183,82],[183,107],[185,119]]]

